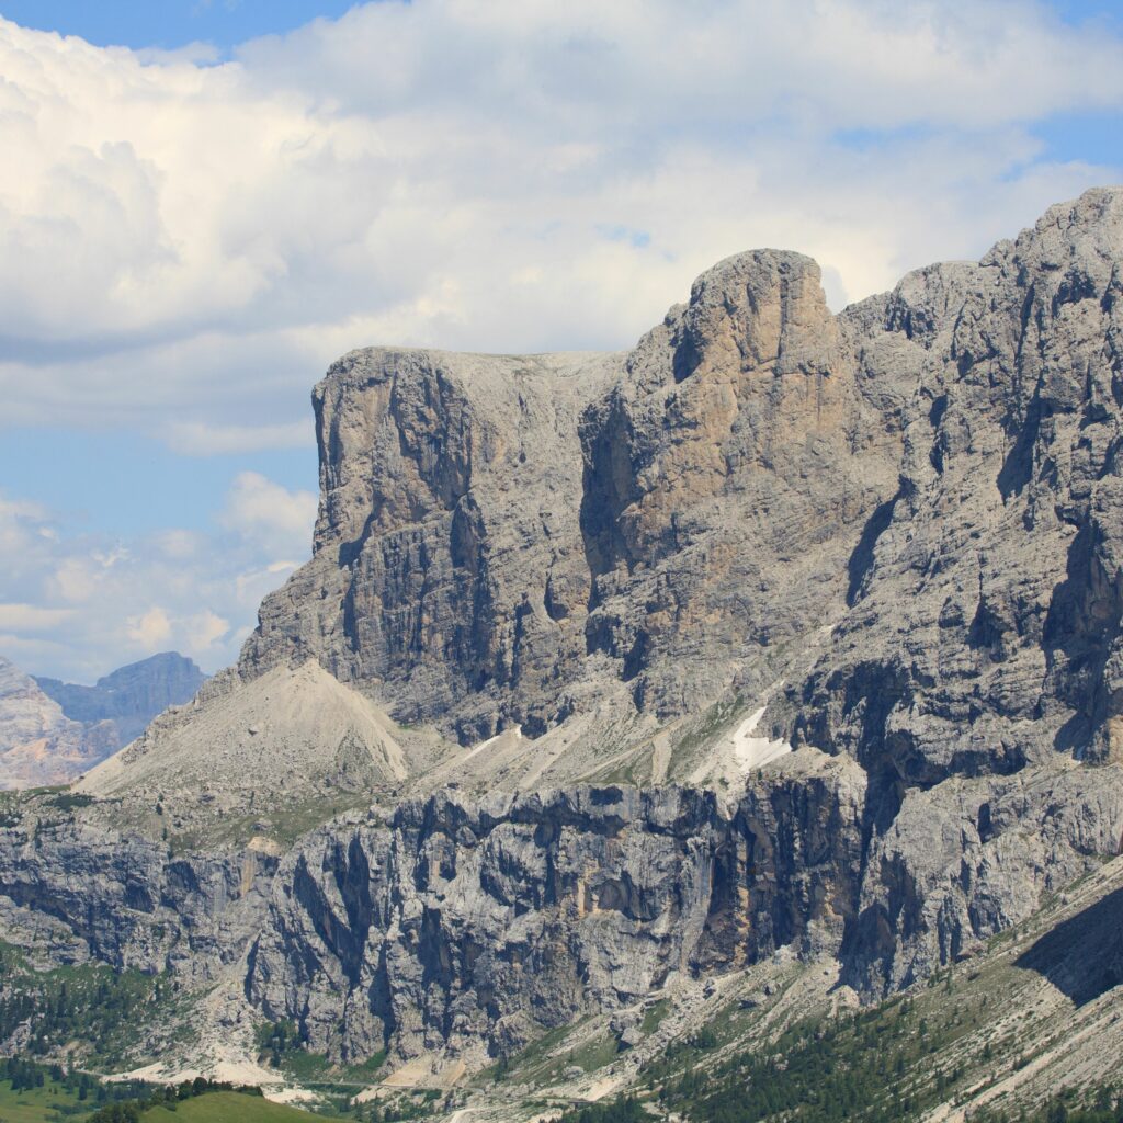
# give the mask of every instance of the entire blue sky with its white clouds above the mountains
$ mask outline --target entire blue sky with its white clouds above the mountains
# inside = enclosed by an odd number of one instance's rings
[[[626,347],[759,245],[839,308],[1123,180],[1094,0],[0,13],[0,654],[79,681],[236,656],[351,347]]]

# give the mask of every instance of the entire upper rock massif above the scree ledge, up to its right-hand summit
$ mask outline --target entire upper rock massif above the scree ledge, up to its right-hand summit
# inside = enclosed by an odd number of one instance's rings
[[[314,659],[462,745],[595,712],[640,756],[654,730],[674,747],[693,714],[767,703],[761,733],[893,784],[1085,751],[1114,687],[1081,701],[1087,667],[1067,675],[1053,637],[1083,595],[1066,528],[1110,494],[1110,441],[1090,490],[1081,448],[1116,423],[1121,208],[1088,192],[839,316],[811,258],[760,249],[627,354],[349,353],[313,393],[313,558],[263,603],[239,681]],[[987,593],[980,565],[1007,555],[1021,592]],[[955,669],[933,661],[948,636]],[[1029,667],[1046,697],[1015,704]],[[971,747],[958,715],[979,707]]]

